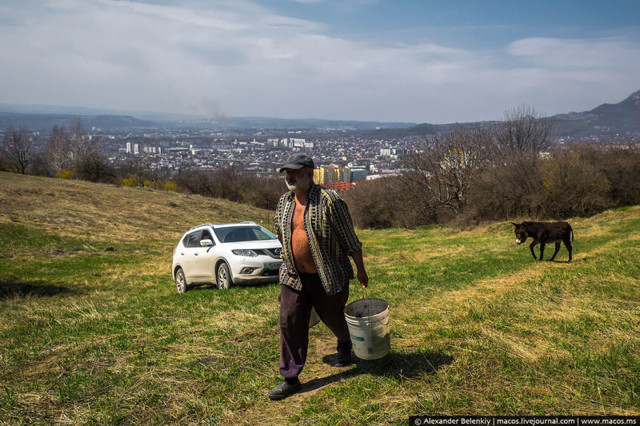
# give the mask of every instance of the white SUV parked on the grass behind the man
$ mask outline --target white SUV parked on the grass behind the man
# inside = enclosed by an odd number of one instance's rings
[[[232,284],[278,281],[282,264],[278,238],[254,222],[191,228],[173,249],[173,280],[178,293],[193,284]]]

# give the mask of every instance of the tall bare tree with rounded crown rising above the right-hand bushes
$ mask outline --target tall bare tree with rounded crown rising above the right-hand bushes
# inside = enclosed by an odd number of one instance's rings
[[[520,106],[505,113],[496,129],[498,146],[510,152],[547,150],[551,145],[551,125],[533,107]]]

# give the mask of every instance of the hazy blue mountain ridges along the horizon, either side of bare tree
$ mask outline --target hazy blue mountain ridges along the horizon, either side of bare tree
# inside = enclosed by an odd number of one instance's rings
[[[491,126],[496,122],[450,124],[418,124],[403,122],[348,121],[321,119],[282,119],[268,117],[211,118],[186,114],[153,112],[118,112],[113,110],[25,106],[0,104],[0,130],[9,125],[15,128],[48,132],[54,124],[69,126],[80,119],[86,129],[104,131],[153,130],[195,128],[241,132],[256,129],[318,129],[375,133],[377,137],[400,138],[447,133],[461,126]],[[590,111],[570,112],[548,117],[555,137],[584,139],[598,137],[603,140],[640,137],[640,91],[617,104],[602,104]]]

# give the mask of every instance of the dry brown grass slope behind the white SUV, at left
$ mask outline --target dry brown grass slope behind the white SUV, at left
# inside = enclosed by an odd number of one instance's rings
[[[33,226],[90,240],[177,239],[200,223],[254,220],[273,213],[227,200],[146,188],[0,172],[0,223]]]

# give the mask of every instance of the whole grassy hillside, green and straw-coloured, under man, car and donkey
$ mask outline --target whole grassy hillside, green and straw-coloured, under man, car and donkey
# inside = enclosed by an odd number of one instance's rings
[[[571,264],[534,262],[508,223],[359,231],[392,352],[330,367],[335,341],[316,326],[303,392],[282,402],[266,396],[280,380],[278,286],[179,295],[170,277],[189,227],[270,215],[0,173],[0,422],[640,413],[639,207],[571,220]]]

